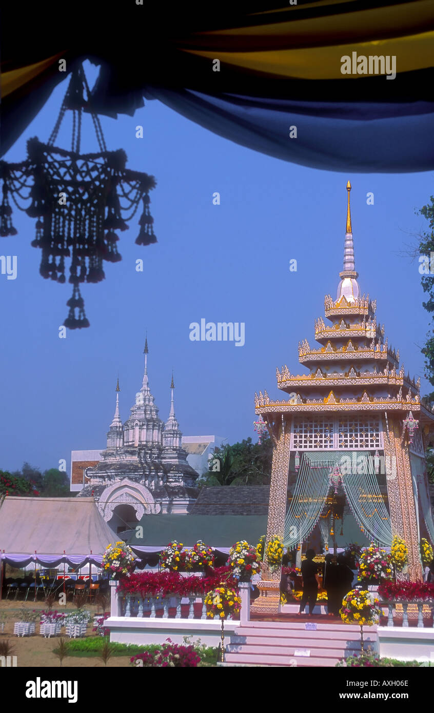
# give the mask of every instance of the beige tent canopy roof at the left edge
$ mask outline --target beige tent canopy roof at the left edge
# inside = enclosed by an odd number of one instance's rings
[[[93,498],[14,498],[0,506],[0,551],[102,555],[118,540]]]

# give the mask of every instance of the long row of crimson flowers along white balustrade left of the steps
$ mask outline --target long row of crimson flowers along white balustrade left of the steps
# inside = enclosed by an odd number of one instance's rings
[[[229,567],[212,570],[207,577],[181,577],[177,572],[142,572],[121,578],[118,592],[140,597],[188,597],[205,594],[222,582],[237,586]]]

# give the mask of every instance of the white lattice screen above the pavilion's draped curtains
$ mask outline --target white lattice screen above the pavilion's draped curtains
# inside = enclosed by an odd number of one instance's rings
[[[372,416],[296,416],[291,430],[291,449],[311,451],[342,448],[346,451],[383,448],[381,419]]]

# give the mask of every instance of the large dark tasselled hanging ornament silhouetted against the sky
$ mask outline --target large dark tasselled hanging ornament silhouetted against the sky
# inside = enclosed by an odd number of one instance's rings
[[[85,87],[87,101],[83,96]],[[91,113],[98,153],[80,153],[83,110]],[[54,146],[66,111],[73,113],[70,151]],[[142,200],[143,215],[139,220],[140,233],[136,243],[150,245],[157,242],[148,195],[155,188],[155,178],[127,170],[127,156],[122,149],[107,150],[81,65],[71,73],[71,81],[48,143],[41,143],[36,137],[29,139],[27,154],[28,158],[21,163],[0,161],[3,197],[0,236],[16,235],[9,205],[11,195],[20,210],[36,218],[36,237],[31,245],[42,251],[41,276],[65,283],[65,259],[71,258],[68,282],[73,286],[73,294],[66,303],[69,312],[64,326],[69,329],[88,327],[79,285],[82,282],[100,282],[105,278],[103,260],[119,262],[122,259],[115,231],[128,229],[123,211],[130,213],[126,218],[130,220]],[[120,198],[123,205],[120,205]],[[30,205],[21,207],[18,199],[30,200]]]

